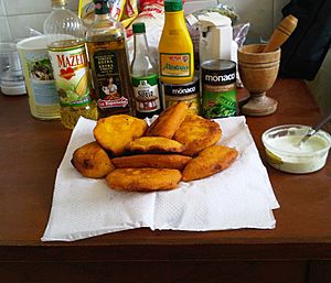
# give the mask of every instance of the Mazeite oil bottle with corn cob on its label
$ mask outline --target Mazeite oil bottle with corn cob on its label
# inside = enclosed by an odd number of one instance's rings
[[[52,12],[44,22],[44,34],[60,97],[62,123],[73,129],[81,116],[97,120],[97,107],[90,98],[84,25],[66,8],[65,0],[52,0]]]

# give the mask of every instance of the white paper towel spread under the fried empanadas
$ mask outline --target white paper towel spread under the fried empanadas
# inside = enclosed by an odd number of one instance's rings
[[[81,118],[57,170],[51,216],[42,241],[74,241],[120,230],[207,231],[275,228],[274,195],[244,117],[215,120],[220,144],[235,148],[232,166],[211,177],[181,182],[157,193],[118,192],[105,179],[86,178],[72,166],[73,152],[94,140],[95,121]]]

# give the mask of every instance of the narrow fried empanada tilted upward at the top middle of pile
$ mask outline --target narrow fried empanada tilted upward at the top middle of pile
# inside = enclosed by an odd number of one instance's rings
[[[146,135],[172,139],[173,134],[185,119],[189,106],[181,101],[168,107],[148,128]]]

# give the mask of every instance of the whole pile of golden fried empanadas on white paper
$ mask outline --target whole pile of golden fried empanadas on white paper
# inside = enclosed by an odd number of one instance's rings
[[[148,127],[145,120],[117,115],[98,120],[96,141],[77,149],[74,167],[86,177],[106,177],[110,188],[160,191],[180,181],[204,178],[227,168],[238,152],[224,145],[218,123],[188,112],[179,102]]]

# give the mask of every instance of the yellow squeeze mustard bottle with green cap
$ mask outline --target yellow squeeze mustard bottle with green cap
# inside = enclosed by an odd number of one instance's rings
[[[160,80],[188,84],[193,80],[193,43],[189,34],[182,0],[164,0],[166,21],[159,43]]]

